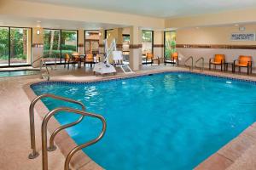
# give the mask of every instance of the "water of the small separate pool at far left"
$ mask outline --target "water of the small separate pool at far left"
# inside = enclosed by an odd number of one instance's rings
[[[20,77],[38,74],[37,70],[0,71],[0,77]]]

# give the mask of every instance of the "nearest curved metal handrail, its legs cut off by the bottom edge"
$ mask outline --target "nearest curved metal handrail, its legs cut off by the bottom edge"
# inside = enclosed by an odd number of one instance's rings
[[[41,129],[41,133],[42,133],[42,164],[43,164],[43,170],[48,170],[48,153],[47,153],[47,124],[49,122],[50,117],[54,116],[56,113],[60,112],[60,111],[68,111],[71,113],[76,113],[82,116],[91,116],[91,117],[95,117],[97,119],[100,119],[100,121],[102,121],[102,132],[99,134],[98,137],[96,137],[96,139],[92,139],[89,142],[86,142],[84,144],[80,144],[76,147],[73,148],[73,150],[71,150],[66,157],[65,160],[65,166],[64,166],[64,170],[69,170],[69,162],[71,161],[71,158],[73,157],[73,155],[79,151],[82,150],[83,148],[90,146],[91,144],[96,144],[96,142],[98,142],[100,139],[102,139],[102,137],[104,136],[105,132],[106,132],[106,127],[107,127],[107,122],[104,119],[103,116],[100,115],[96,115],[93,113],[89,113],[89,112],[85,112],[85,111],[79,111],[76,109],[72,109],[72,108],[68,108],[68,107],[60,107],[60,108],[56,108],[53,111],[49,111],[49,113],[44,116],[44,120],[42,123],[42,129]]]

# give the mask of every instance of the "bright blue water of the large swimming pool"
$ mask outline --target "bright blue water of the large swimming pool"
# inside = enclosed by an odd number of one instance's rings
[[[107,120],[104,138],[84,152],[110,170],[192,169],[256,120],[256,85],[174,72],[97,83],[39,83],[36,94],[77,99]],[[67,105],[44,99],[49,109]],[[58,114],[61,124],[78,118]],[[67,133],[77,144],[102,124],[86,117]]]

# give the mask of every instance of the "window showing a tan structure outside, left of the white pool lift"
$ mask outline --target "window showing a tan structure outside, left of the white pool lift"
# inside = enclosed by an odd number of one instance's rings
[[[84,31],[85,54],[99,54],[99,31]]]

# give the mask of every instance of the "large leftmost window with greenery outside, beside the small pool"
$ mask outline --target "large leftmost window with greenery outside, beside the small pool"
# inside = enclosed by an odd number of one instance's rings
[[[31,64],[31,28],[0,27],[0,66]]]

